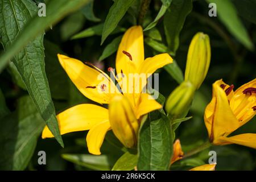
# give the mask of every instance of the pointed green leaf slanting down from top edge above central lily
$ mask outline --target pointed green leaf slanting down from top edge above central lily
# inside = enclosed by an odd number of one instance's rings
[[[104,43],[104,40],[111,34],[111,32],[117,27],[118,22],[125,15],[126,11],[133,4],[134,0],[115,0],[114,5],[109,9],[109,13],[106,16],[104,23],[101,45]]]

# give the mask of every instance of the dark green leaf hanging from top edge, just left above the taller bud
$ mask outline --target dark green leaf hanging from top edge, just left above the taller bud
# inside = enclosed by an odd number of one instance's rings
[[[164,15],[164,32],[170,51],[176,53],[179,35],[187,15],[192,10],[192,0],[173,0]]]

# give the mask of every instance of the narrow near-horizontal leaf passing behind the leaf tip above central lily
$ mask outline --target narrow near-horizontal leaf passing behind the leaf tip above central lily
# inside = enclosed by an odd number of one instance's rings
[[[86,28],[85,30],[72,36],[71,39],[82,39],[82,38],[88,38],[88,37],[94,36],[94,35],[101,35],[103,27],[104,27],[104,23],[97,24],[96,26],[93,26],[90,28]],[[125,28],[117,27],[112,32],[112,34],[116,34],[116,33],[123,32],[123,31],[125,31]]]

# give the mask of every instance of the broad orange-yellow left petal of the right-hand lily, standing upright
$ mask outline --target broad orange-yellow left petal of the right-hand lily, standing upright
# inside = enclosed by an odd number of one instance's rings
[[[225,91],[218,80],[213,84],[213,98],[205,109],[204,121],[210,140],[232,133],[239,127],[237,118],[230,109]],[[214,141],[213,141],[214,143]]]

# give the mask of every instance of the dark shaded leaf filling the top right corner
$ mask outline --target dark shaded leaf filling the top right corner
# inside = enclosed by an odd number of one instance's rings
[[[255,0],[233,0],[232,1],[236,6],[238,14],[249,22],[256,24],[256,1]]]

